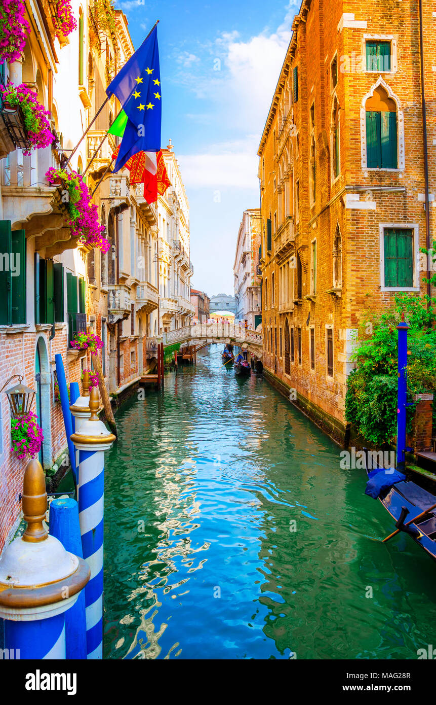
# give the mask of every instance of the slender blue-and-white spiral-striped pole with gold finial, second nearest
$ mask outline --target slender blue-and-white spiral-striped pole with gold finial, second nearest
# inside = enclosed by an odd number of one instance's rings
[[[91,570],[91,579],[85,588],[87,658],[103,658],[104,451],[116,440],[96,415],[99,405],[99,392],[93,387],[89,396],[91,417],[71,436],[79,451],[79,522],[83,558]]]

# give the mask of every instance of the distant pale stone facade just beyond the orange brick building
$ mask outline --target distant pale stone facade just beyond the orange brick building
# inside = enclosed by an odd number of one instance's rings
[[[235,321],[247,321],[254,331],[261,323],[261,278],[259,247],[261,246],[261,209],[244,211],[236,242],[233,276],[235,278]]]

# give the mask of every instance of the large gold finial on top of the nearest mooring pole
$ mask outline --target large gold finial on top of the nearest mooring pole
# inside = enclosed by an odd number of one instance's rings
[[[45,490],[44,470],[39,460],[30,460],[23,478],[23,515],[27,529],[23,541],[37,543],[47,538],[42,520],[47,510],[47,493]]]

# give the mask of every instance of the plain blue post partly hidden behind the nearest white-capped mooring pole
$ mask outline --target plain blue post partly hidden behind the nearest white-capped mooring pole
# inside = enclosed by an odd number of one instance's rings
[[[66,551],[83,558],[79,506],[73,498],[58,498],[51,502],[50,536],[61,541]],[[66,658],[68,660],[85,660],[87,658],[86,633],[85,591],[82,590],[75,605],[65,615]]]

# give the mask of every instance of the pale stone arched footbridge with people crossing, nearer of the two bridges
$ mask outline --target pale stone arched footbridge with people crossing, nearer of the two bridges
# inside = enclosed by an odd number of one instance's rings
[[[162,334],[163,347],[181,343],[181,345],[205,345],[206,343],[232,343],[243,350],[249,350],[262,360],[262,333],[249,331],[244,326],[233,323],[198,323],[185,326],[176,331]]]

